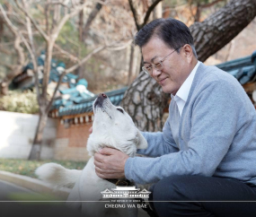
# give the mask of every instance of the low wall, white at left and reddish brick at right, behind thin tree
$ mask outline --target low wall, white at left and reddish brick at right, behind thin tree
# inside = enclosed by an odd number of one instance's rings
[[[28,159],[39,116],[0,111],[0,158]],[[59,119],[48,119],[40,159],[87,161],[86,150],[92,123],[65,127]]]

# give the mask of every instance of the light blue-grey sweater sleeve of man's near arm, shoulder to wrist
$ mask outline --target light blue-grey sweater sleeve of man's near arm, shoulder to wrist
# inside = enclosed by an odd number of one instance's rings
[[[239,109],[243,109],[232,88],[215,81],[199,91],[193,104],[188,149],[156,158],[128,158],[126,178],[145,184],[172,175],[212,176],[228,152]]]

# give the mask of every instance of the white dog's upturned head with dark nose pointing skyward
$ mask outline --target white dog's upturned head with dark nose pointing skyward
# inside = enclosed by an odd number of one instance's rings
[[[93,102],[93,133],[89,136],[87,150],[94,155],[103,147],[118,149],[134,156],[137,149],[146,149],[147,143],[134,125],[132,118],[121,107],[114,106],[104,94]]]

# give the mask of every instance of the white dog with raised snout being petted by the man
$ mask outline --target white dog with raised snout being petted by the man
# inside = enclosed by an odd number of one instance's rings
[[[115,107],[101,93],[93,102],[93,133],[87,141],[87,150],[92,158],[83,170],[65,169],[56,163],[47,163],[36,170],[36,174],[55,186],[73,187],[67,204],[82,209],[88,216],[137,216],[137,209],[106,209],[101,192],[116,187],[95,173],[94,153],[103,147],[118,149],[134,157],[137,149],[146,149],[146,139],[140,134],[131,117],[120,107]],[[87,203],[83,203],[89,201]],[[101,203],[92,203],[101,201]],[[117,213],[112,213],[117,212]]]

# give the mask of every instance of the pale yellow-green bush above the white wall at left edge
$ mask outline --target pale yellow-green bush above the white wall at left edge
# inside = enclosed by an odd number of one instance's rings
[[[35,91],[9,91],[0,99],[0,109],[6,111],[35,114],[39,112]]]

